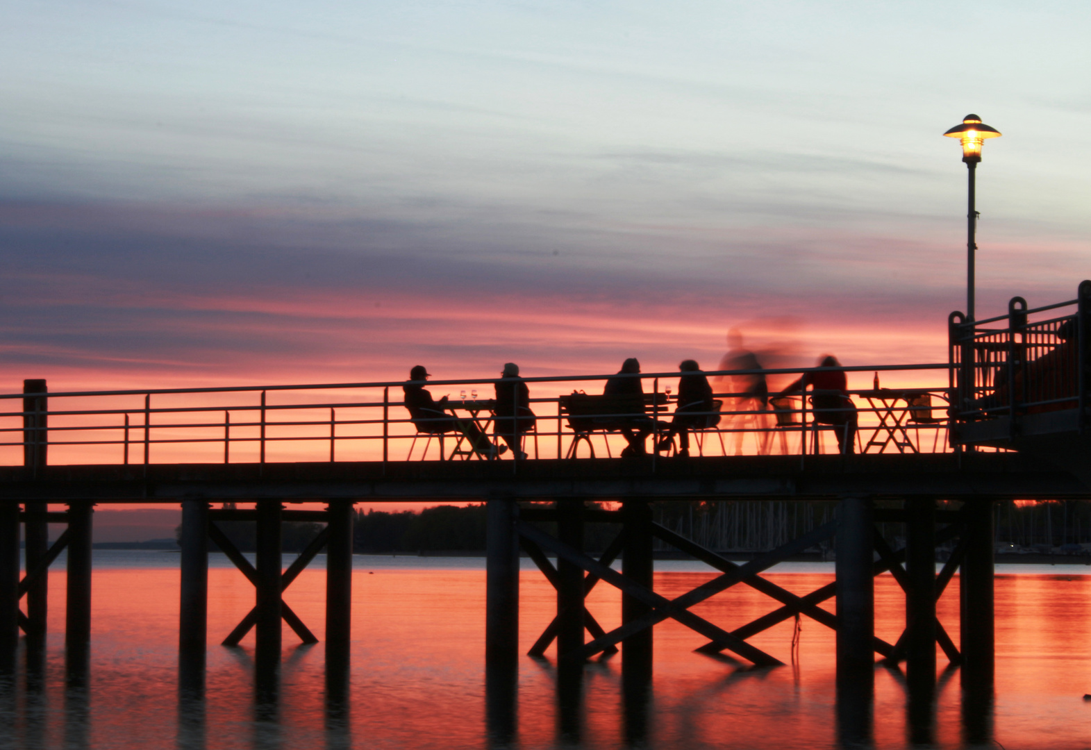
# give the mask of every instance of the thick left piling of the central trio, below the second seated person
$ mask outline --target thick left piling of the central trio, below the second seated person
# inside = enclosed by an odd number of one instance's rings
[[[485,505],[484,653],[489,664],[514,665],[519,655],[519,507],[512,498]]]

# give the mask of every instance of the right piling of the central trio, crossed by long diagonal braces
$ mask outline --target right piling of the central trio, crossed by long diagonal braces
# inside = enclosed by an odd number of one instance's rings
[[[634,583],[651,590],[655,563],[651,548],[651,508],[645,500],[622,502],[624,525],[622,574]],[[621,596],[622,623],[638,620],[651,611],[651,607],[628,594]],[[628,688],[640,692],[640,683],[651,679],[652,629],[646,628],[621,642],[622,678]]]

